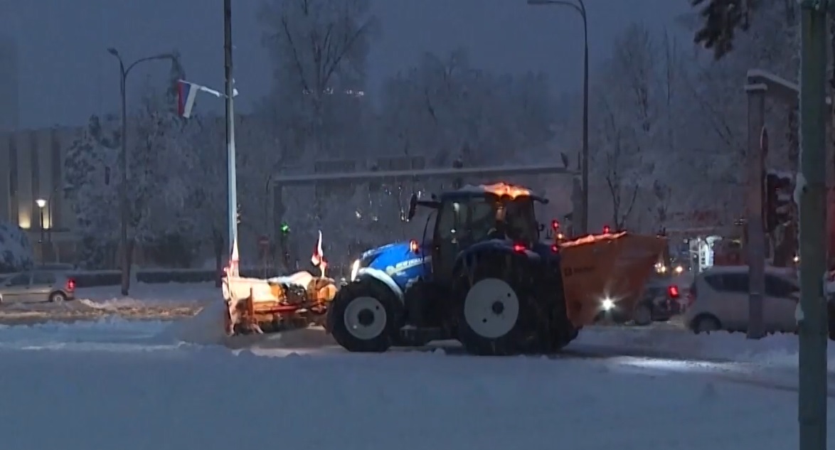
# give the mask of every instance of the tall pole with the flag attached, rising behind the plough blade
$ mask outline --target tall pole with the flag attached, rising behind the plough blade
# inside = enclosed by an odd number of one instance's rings
[[[228,215],[229,215],[229,249],[238,238],[238,192],[237,176],[235,174],[235,78],[232,74],[232,1],[223,0],[223,42],[225,53],[226,78],[226,152],[227,152],[227,183]]]

